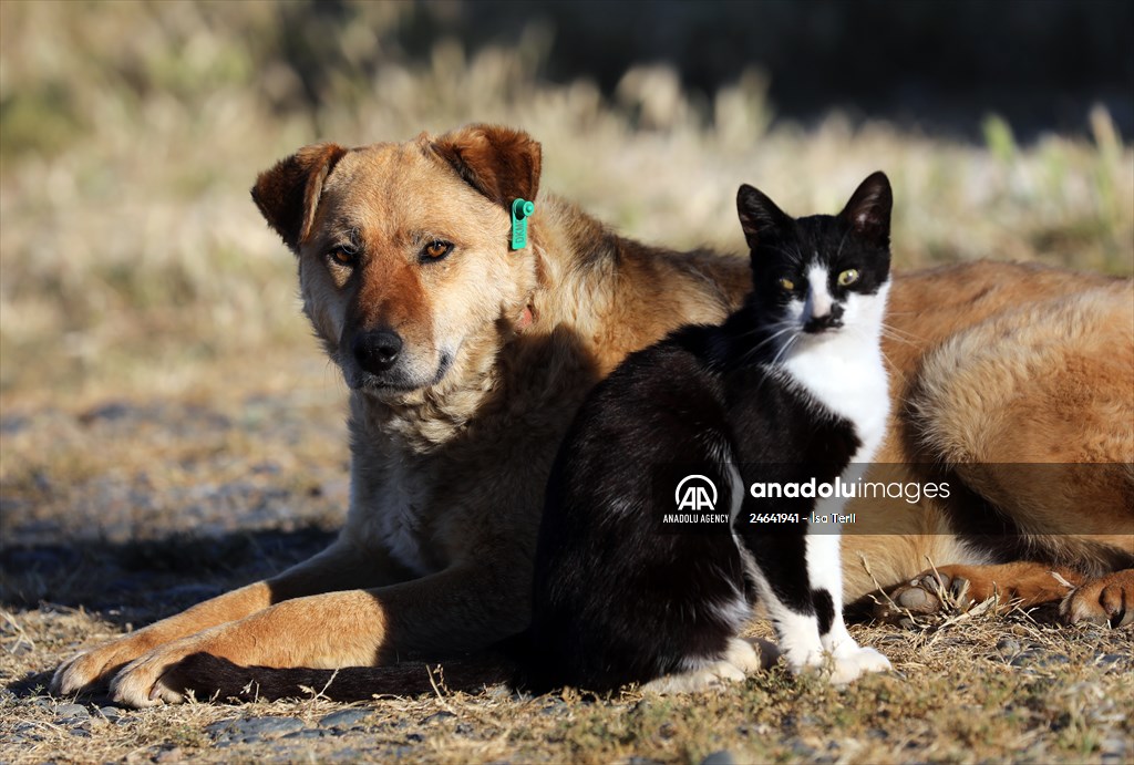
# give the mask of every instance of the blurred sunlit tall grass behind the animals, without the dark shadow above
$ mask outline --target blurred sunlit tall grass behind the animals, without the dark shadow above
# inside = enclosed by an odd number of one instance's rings
[[[468,121],[527,129],[544,190],[650,241],[739,252],[741,182],[789,212],[833,211],[881,168],[899,267],[1134,271],[1134,154],[1102,108],[1089,138],[1027,145],[995,114],[978,144],[837,112],[805,127],[773,120],[760,71],[704,97],[640,66],[606,97],[540,77],[539,25],[507,48],[442,40],[408,57],[408,3],[305,8],[0,3],[5,401],[183,391],[249,355],[316,358],[293,258],[248,199],[255,173],[320,139]],[[305,62],[321,56],[312,78]]]

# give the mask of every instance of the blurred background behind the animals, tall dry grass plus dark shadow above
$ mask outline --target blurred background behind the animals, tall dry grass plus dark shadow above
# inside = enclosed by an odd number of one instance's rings
[[[902,267],[1128,274],[1132,31],[1109,0],[5,0],[0,402],[325,385],[255,173],[468,121],[652,241],[739,250],[741,182],[833,211],[882,168]]]

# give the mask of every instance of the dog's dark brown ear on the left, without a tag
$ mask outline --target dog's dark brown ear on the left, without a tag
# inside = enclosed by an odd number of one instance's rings
[[[323,181],[346,153],[338,144],[304,146],[256,178],[252,199],[291,252],[311,233]]]

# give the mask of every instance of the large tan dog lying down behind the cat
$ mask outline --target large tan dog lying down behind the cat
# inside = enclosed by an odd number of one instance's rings
[[[491,126],[354,150],[310,146],[260,176],[253,197],[297,255],[305,312],[352,389],[346,526],[328,550],[273,579],[78,654],[56,672],[53,692],[111,681],[117,700],[147,706],[181,699],[163,677],[198,652],[242,665],[378,665],[475,651],[526,626],[544,482],[583,397],[629,351],[680,324],[719,322],[750,287],[743,258],[646,247],[547,195],[527,246],[513,250],[509,206],[535,199],[539,178],[539,144]],[[888,456],[947,460],[942,469],[966,486],[988,482],[954,464],[1029,461],[1022,442],[1063,461],[1098,442],[1092,459],[1129,462],[1134,437],[1118,431],[1131,422],[1134,338],[1111,305],[1126,299],[1128,308],[1129,294],[1128,282],[997,264],[898,278],[887,354],[899,406]],[[1013,335],[1031,329],[1038,340]],[[1048,347],[1056,350],[1044,356]],[[1001,374],[997,352],[1015,359],[1013,372]],[[981,398],[988,391],[1025,398],[996,427],[974,431],[991,422],[988,410],[1004,410],[995,396]],[[1115,437],[1092,430],[1088,413],[1112,415]],[[950,436],[956,428],[962,435]],[[1042,451],[1049,444],[1057,450]],[[857,553],[883,586],[917,575],[926,556],[1026,559],[1034,562],[1010,573],[951,573],[970,593],[988,580],[1031,597],[1026,583],[1040,571],[1044,597],[1063,598],[1048,564],[1080,584],[1134,560],[1134,539],[1114,535],[1131,524],[1129,479],[1117,493],[1095,492],[1101,504],[1039,508],[1031,495],[971,490],[970,500],[1018,521],[1017,541],[1042,541],[1032,517],[1066,532],[1030,556],[1021,545],[966,542],[965,516],[948,503],[880,505],[870,511],[877,525],[864,526],[874,535],[845,537],[848,600],[874,588]],[[928,596],[916,583],[904,592]],[[1131,595],[1129,572],[1093,579],[1067,611],[1115,620],[1111,600]]]

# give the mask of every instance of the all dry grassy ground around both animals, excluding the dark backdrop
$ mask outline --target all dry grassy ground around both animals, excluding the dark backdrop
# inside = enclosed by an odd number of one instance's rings
[[[378,34],[399,8],[362,12]],[[700,762],[721,749],[738,762],[1129,762],[1131,630],[1021,613],[860,628],[897,671],[844,691],[775,671],[704,698],[386,700],[365,734],[282,754],[215,749],[201,726],[311,721],[331,705],[133,712],[90,737],[61,725],[42,695],[59,660],[187,605],[202,581],[262,576],[307,544],[272,534],[315,539],[304,529],[341,517],[342,388],[298,314],[291,257],[247,197],[257,170],[304,143],[523,126],[543,142],[544,189],[646,240],[728,249],[742,246],[741,182],[788,211],[830,211],[882,168],[899,266],[1134,272],[1134,152],[1101,110],[1089,138],[1023,146],[996,118],[982,145],[839,114],[773,122],[759,73],[702,103],[671,71],[640,68],[607,101],[587,82],[532,77],[545,50],[534,29],[507,52],[449,42],[424,68],[345,74],[325,84],[337,107],[313,117],[263,42],[279,19],[260,3],[0,3],[0,683],[14,690],[0,691],[0,762]],[[366,25],[352,35],[348,63],[373,44]],[[28,549],[46,558],[14,556]],[[149,584],[116,589],[118,577]],[[104,602],[121,606],[76,610]],[[1013,665],[1006,638],[1067,661]],[[441,709],[456,717],[422,722]]]

